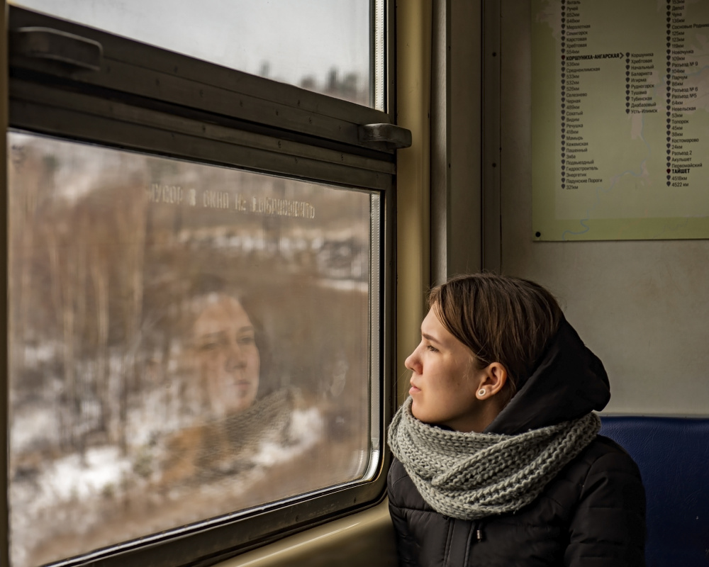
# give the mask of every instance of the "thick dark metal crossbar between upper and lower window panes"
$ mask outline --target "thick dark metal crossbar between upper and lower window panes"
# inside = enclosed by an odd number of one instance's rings
[[[100,45],[98,69],[82,66],[80,57],[68,64],[23,50],[23,34],[43,30]],[[374,108],[15,6],[9,9],[9,46],[14,128],[335,183],[391,186],[386,178],[393,174],[395,148],[360,140],[362,125],[391,125],[389,114]],[[180,135],[190,139],[170,140]],[[213,157],[196,143],[211,145]],[[220,152],[220,143],[228,150]],[[252,149],[265,152],[263,164],[253,165]],[[328,172],[328,165],[340,173]]]

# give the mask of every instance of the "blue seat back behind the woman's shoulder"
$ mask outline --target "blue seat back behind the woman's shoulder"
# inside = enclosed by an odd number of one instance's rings
[[[709,566],[709,419],[601,416],[640,467],[647,567]]]

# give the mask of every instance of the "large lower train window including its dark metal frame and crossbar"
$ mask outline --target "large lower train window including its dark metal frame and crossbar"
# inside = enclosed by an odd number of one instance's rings
[[[11,567],[381,499],[389,114],[17,6],[9,45]]]

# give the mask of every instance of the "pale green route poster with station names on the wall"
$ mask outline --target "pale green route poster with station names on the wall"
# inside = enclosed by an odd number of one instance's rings
[[[709,237],[709,2],[532,0],[532,239]]]

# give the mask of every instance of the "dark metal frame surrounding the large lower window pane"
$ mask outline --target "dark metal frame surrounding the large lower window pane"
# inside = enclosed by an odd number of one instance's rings
[[[379,193],[381,277],[376,311],[380,332],[378,348],[372,350],[380,354],[372,370],[378,367],[381,377],[375,420],[380,439],[396,403],[396,142],[386,136],[367,140],[362,128],[391,125],[389,130],[397,135],[403,130],[391,118],[395,116],[393,9],[394,1],[386,0],[386,113],[16,6],[7,11],[9,128]],[[37,28],[40,33],[33,33]],[[28,37],[33,38],[30,47]],[[59,50],[62,55],[45,57],[43,50]],[[389,452],[380,448],[370,481],[234,512],[52,565],[218,563],[381,502],[390,459]],[[3,520],[9,518],[5,515]],[[7,553],[7,531],[0,537]]]

